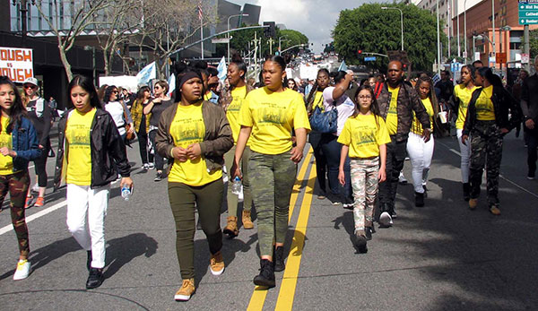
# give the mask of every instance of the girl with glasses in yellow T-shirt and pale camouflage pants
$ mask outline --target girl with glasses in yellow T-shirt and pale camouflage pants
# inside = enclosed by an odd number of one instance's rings
[[[344,164],[349,155],[354,198],[353,239],[360,253],[366,253],[367,240],[372,238],[374,230],[377,185],[386,179],[386,143],[390,143],[390,136],[380,117],[374,91],[368,85],[357,89],[355,103],[355,112],[345,121],[338,137],[338,143],[342,143],[338,180],[345,185]]]

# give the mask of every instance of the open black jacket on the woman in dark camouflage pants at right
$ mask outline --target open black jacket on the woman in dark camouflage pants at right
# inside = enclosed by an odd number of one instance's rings
[[[473,91],[467,107],[467,115],[465,116],[464,130],[462,132],[464,135],[469,135],[476,124],[476,99],[478,99],[482,90],[483,88]],[[493,102],[493,109],[495,110],[495,123],[499,128],[507,128],[510,131],[521,122],[521,107],[504,87],[493,85],[491,102]],[[510,114],[509,118],[508,114]]]

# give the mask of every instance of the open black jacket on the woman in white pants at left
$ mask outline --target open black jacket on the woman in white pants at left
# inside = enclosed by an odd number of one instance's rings
[[[65,124],[73,109],[64,114],[58,123],[58,151],[56,153],[55,190],[62,182],[64,166]],[[98,108],[91,122],[91,188],[106,186],[117,179],[117,169],[122,177],[129,177],[131,166],[127,160],[126,145],[117,132],[114,120],[104,109]],[[116,163],[116,164],[114,164]]]

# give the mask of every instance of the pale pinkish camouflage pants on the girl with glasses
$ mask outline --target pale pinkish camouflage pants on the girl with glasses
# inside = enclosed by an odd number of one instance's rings
[[[377,195],[377,172],[379,158],[351,159],[351,186],[353,187],[353,220],[355,231],[364,232],[371,227],[374,218],[374,203]]]

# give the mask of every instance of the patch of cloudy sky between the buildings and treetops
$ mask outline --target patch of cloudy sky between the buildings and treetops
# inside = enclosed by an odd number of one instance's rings
[[[256,4],[262,7],[260,23],[276,22],[289,30],[304,33],[314,43],[314,51],[321,52],[332,41],[331,31],[340,11],[361,4],[390,2],[390,0],[228,0],[234,4]]]

